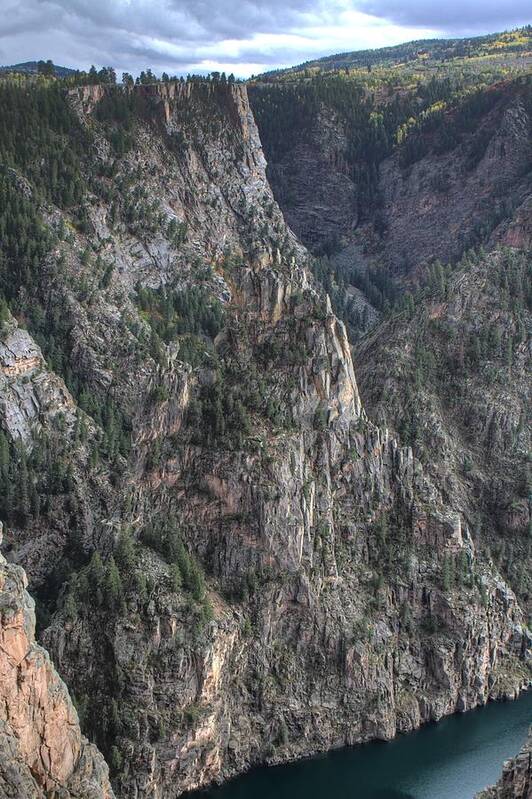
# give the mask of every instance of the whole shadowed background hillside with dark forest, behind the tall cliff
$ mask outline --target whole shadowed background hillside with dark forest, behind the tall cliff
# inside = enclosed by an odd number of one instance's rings
[[[529,246],[530,69],[446,69],[250,86],[274,195],[352,340],[434,259]]]

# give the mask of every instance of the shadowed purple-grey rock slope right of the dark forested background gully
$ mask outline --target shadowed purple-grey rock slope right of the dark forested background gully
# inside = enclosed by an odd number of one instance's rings
[[[532,122],[526,90],[492,94],[474,129],[449,153],[429,152],[407,168],[398,155],[382,164],[382,244],[393,270],[419,274],[432,258],[460,258],[528,200]]]

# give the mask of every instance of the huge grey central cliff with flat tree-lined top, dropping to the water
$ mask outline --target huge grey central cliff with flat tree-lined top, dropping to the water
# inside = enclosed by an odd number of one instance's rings
[[[515,696],[523,607],[467,509],[368,419],[245,88],[65,102],[75,191],[32,194],[34,162],[6,177],[50,240],[5,289],[0,466],[27,501],[3,513],[116,793]]]

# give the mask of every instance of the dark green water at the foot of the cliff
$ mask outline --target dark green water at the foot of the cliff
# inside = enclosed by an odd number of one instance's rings
[[[396,738],[258,768],[197,799],[472,799],[532,723],[532,691]]]

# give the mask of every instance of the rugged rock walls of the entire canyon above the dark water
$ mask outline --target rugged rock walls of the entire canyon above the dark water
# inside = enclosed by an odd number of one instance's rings
[[[1,172],[33,244],[2,262],[0,791],[172,799],[516,697],[530,83],[451,152],[386,156],[378,212],[326,105],[267,165],[267,89],[51,91]],[[74,153],[55,194],[43,141]],[[314,274],[331,237],[420,292],[364,299],[356,341]]]

